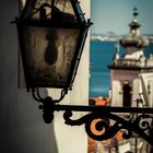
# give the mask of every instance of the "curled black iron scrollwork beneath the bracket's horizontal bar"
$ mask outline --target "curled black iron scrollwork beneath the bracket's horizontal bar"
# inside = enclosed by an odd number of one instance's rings
[[[92,111],[79,119],[71,119],[72,111],[67,110],[63,114],[63,118],[67,125],[80,126],[85,125],[85,131],[94,140],[107,140],[116,136],[118,131],[122,131],[122,138],[129,139],[132,133],[136,132],[149,143],[153,144],[151,121],[153,117],[151,115],[139,115],[134,118],[125,119],[123,117],[103,111]],[[93,121],[95,123],[93,125]],[[94,129],[94,130],[93,130]]]

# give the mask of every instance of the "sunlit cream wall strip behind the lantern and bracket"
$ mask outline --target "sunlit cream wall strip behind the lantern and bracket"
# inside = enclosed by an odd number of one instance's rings
[[[81,4],[83,11],[85,10],[86,17],[89,17],[89,0],[82,0]],[[89,49],[87,38],[73,89],[61,102],[63,105],[87,105],[89,103]],[[55,91],[49,90],[50,95],[56,94],[54,93]],[[59,153],[87,153],[87,134],[84,125],[80,127],[67,126],[62,115],[63,113],[56,113],[55,116],[55,133]],[[83,113],[74,113],[73,117],[79,118],[82,115]]]

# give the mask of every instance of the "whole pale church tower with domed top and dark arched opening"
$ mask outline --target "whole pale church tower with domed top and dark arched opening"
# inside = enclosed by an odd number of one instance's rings
[[[144,106],[150,105],[150,99],[153,98],[149,98],[149,90],[153,96],[153,79],[149,79],[150,84],[144,81],[146,74],[153,75],[153,56],[149,58],[144,56],[144,47],[149,45],[149,39],[140,34],[141,25],[137,20],[138,15],[138,10],[134,8],[129,34],[119,40],[119,45],[126,51],[125,55],[120,57],[119,47],[116,47],[113,62],[108,66],[113,106]],[[143,104],[138,104],[139,98]]]

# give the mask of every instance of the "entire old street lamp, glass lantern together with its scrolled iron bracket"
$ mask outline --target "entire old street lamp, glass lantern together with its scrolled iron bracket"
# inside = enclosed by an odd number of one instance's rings
[[[145,120],[153,118],[153,108],[59,105],[72,87],[92,24],[85,20],[78,0],[26,0],[15,23],[26,87],[42,103],[39,108],[44,111],[46,123],[52,121],[55,110],[62,110],[67,125],[85,123],[85,131],[95,140],[110,139],[123,129],[125,139],[129,139],[134,131],[153,144],[152,127]],[[50,96],[44,98],[39,94],[39,87],[61,89],[61,96],[59,99]],[[72,111],[89,114],[72,120]],[[133,113],[138,116],[131,120],[121,118],[116,113]],[[94,119],[99,119],[95,125],[98,134],[91,129]]]

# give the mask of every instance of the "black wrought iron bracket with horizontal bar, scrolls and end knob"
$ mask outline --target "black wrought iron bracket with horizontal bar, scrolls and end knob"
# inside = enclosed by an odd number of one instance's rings
[[[43,104],[39,109],[43,109],[43,118],[46,123],[54,120],[55,111],[64,111],[64,123],[69,126],[84,125],[87,136],[94,140],[108,140],[117,132],[122,131],[123,139],[130,139],[133,133],[137,133],[153,145],[153,108],[59,105],[49,96],[39,101]],[[89,114],[79,119],[72,119],[73,111]],[[91,128],[94,120],[97,120],[94,125],[96,133]]]

